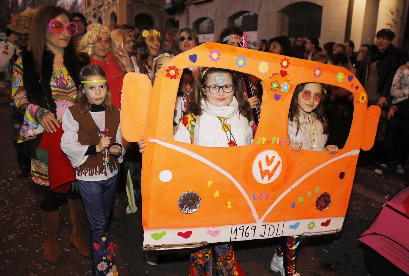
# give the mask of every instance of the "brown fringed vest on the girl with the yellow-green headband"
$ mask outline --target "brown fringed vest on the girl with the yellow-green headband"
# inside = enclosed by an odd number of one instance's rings
[[[69,107],[70,112],[74,120],[79,124],[78,130],[78,142],[81,145],[98,145],[100,138],[98,131],[100,130],[95,124],[94,119],[92,119],[91,113],[83,114],[79,113],[78,104],[74,104]],[[119,126],[120,113],[117,107],[109,113],[105,111],[105,129],[108,129],[109,136],[112,136],[110,146],[115,143],[115,137],[117,135],[117,130]],[[102,129],[104,131],[105,129]],[[87,160],[76,168],[77,175],[91,176],[104,174],[107,175],[107,168],[110,172],[114,172],[119,169],[118,158],[112,154],[108,154],[109,163],[103,165],[103,157],[106,157],[106,154],[99,152],[97,155],[88,155]]]

